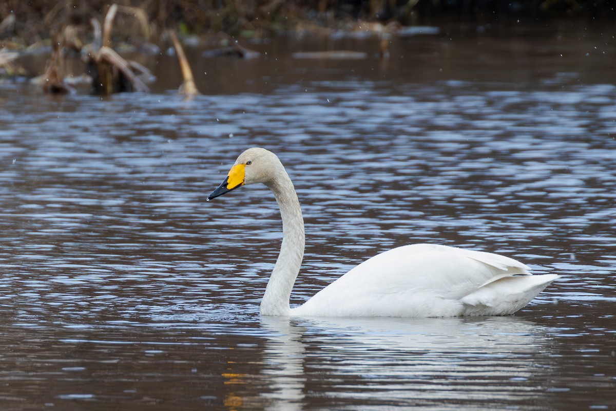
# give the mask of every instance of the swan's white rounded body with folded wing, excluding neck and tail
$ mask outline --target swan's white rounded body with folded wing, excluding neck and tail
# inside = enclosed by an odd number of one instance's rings
[[[503,280],[514,275],[540,277],[530,275],[525,264],[498,254],[443,245],[407,245],[362,262],[302,306],[293,309],[292,314],[386,317],[484,315],[487,314],[485,311],[494,311],[492,307],[503,308],[503,304],[495,302],[499,298],[506,300],[503,294],[507,292],[509,283]],[[478,290],[484,291],[479,293]],[[504,305],[511,308],[514,304]]]

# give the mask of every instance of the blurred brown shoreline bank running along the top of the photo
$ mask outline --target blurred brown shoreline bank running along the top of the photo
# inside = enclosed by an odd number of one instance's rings
[[[25,50],[49,45],[66,26],[83,41],[91,41],[92,19],[103,23],[113,3],[107,1],[24,2],[0,4],[0,46]],[[233,38],[264,38],[290,33],[354,31],[359,25],[383,27],[459,24],[508,26],[575,20],[585,24],[616,20],[606,1],[142,1],[116,2],[121,7],[113,31],[115,43],[164,41],[164,31],[184,41],[203,41],[217,33]],[[147,26],[147,30],[144,30]]]

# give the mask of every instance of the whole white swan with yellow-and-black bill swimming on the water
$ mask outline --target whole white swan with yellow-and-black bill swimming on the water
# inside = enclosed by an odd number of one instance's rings
[[[293,183],[278,157],[248,149],[208,201],[242,185],[261,182],[274,193],[283,240],[261,301],[261,315],[329,317],[454,317],[513,314],[559,276],[530,275],[514,259],[444,245],[415,244],[378,254],[289,306],[304,257],[304,219]]]

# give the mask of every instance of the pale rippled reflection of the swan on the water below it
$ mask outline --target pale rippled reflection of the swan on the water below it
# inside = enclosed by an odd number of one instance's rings
[[[395,319],[262,317],[269,409],[320,397],[355,409],[477,401],[524,404],[548,372],[543,327],[517,317]],[[361,402],[359,402],[361,400]]]

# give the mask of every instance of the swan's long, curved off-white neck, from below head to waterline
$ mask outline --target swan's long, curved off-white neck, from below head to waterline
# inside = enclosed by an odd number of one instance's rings
[[[304,218],[298,195],[284,168],[278,169],[275,178],[267,186],[274,193],[280,207],[282,245],[261,300],[261,315],[289,315],[291,290],[304,258]]]

